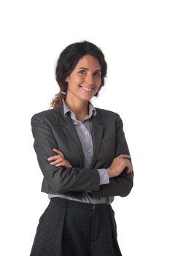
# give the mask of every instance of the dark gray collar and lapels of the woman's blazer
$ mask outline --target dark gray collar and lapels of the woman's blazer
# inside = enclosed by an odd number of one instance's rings
[[[77,135],[77,131],[74,127],[74,124],[72,123],[72,118],[68,116],[64,116],[64,110],[63,110],[63,102],[59,102],[58,108],[56,108],[58,111],[59,116],[59,122],[62,126],[63,132],[66,135],[66,138],[71,141],[73,150],[77,152],[77,156],[80,159],[80,167],[84,167],[84,152],[82,149],[82,144],[80,141],[79,136]],[[98,157],[100,148],[101,148],[101,140],[103,138],[104,134],[104,126],[101,121],[101,116],[99,115],[98,111],[96,111],[96,115],[91,117],[92,121],[92,140],[93,140],[93,158],[90,164],[89,168],[93,168],[93,166],[96,163],[96,159]]]

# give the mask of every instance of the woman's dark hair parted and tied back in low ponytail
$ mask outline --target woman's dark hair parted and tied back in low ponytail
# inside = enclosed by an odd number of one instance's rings
[[[58,103],[62,98],[66,97],[66,94],[61,93],[61,91],[65,93],[67,91],[68,83],[65,80],[72,73],[77,62],[87,54],[96,57],[101,65],[101,86],[98,91],[100,91],[101,87],[104,86],[104,78],[107,76],[107,62],[104,59],[104,53],[102,53],[101,49],[92,42],[75,42],[68,45],[61,52],[58,58],[57,65],[55,67],[55,79],[60,87],[60,91],[58,94],[55,94],[53,101],[50,103],[50,108],[57,108]],[[98,96],[98,91],[94,95],[95,97]]]

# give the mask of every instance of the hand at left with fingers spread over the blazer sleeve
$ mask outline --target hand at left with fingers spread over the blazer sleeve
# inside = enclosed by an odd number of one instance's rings
[[[55,160],[54,162],[50,162],[50,165],[72,167],[72,165],[70,165],[69,161],[67,161],[64,158],[63,153],[61,151],[59,151],[56,148],[53,148],[53,151],[55,151],[57,153],[57,155],[55,155],[53,157],[49,157],[47,159],[48,161]]]

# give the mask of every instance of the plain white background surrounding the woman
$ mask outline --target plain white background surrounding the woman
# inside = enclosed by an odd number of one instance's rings
[[[31,116],[58,92],[55,62],[72,42],[104,52],[93,104],[120,114],[134,188],[115,197],[123,256],[170,255],[169,1],[1,1],[1,255],[29,255],[49,200],[40,192]]]

